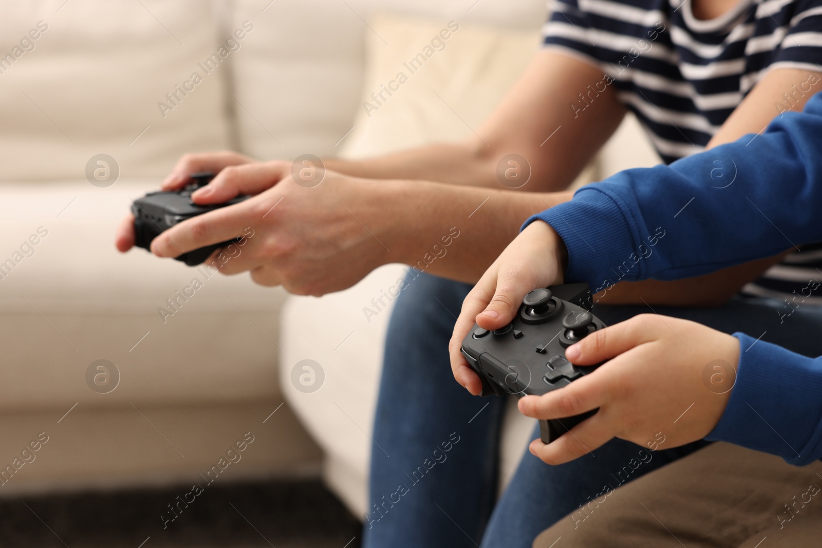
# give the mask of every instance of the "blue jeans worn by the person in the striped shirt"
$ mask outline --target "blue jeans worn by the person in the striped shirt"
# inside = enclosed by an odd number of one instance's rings
[[[704,446],[650,453],[612,440],[593,454],[548,466],[526,448],[496,500],[503,398],[477,398],[451,375],[448,341],[471,286],[409,273],[386,338],[376,406],[364,523],[367,548],[506,546],[525,548],[581,504]],[[779,304],[779,303],[777,303]],[[808,356],[822,354],[822,312],[807,306],[780,324],[773,302],[734,299],[716,309],[656,307],[727,333],[743,331]],[[648,307],[598,306],[607,325]],[[533,438],[538,437],[535,429]]]

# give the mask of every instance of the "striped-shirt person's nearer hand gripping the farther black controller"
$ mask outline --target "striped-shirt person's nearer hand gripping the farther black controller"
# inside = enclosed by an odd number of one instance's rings
[[[194,194],[197,204],[252,198],[183,221],[151,242],[159,257],[225,242],[247,233],[242,254],[222,261],[223,274],[250,271],[261,285],[282,285],[298,295],[319,296],[351,287],[387,258],[389,235],[370,211],[390,182],[374,182],[326,170],[316,187],[293,181],[290,163],[245,163],[224,168]],[[367,223],[367,224],[363,224]],[[215,251],[207,264],[220,257]]]

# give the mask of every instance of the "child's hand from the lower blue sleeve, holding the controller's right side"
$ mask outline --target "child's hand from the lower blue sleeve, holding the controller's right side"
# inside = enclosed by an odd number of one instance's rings
[[[531,442],[531,453],[548,464],[578,458],[615,436],[650,449],[704,438],[725,410],[739,343],[692,321],[645,314],[590,334],[566,358],[582,366],[610,361],[566,388],[520,399],[520,412],[539,419],[599,408],[551,444]]]

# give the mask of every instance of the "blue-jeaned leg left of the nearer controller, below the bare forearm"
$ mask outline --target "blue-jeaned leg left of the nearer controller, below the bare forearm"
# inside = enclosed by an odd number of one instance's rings
[[[504,399],[474,397],[451,374],[471,286],[413,270],[406,282],[386,338],[363,546],[473,547],[496,498]]]

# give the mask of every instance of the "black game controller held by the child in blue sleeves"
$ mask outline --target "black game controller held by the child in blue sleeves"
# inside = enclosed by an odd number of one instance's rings
[[[514,320],[501,329],[474,324],[463,339],[462,353],[483,380],[480,395],[541,395],[596,369],[565,358],[571,344],[605,327],[589,312],[592,304],[587,283],[556,285],[529,292]],[[540,438],[549,444],[597,411],[539,421]]]

